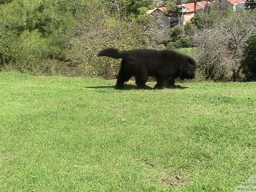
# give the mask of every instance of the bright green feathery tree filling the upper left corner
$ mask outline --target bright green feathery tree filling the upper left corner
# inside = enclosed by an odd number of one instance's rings
[[[50,60],[67,60],[68,41],[76,36],[72,30],[78,28],[77,25],[86,15],[86,4],[100,4],[99,2],[100,0],[1,0],[1,68],[12,66],[21,71],[30,70],[34,74],[37,73],[36,70],[49,69],[48,66],[42,66],[41,69],[39,66]]]

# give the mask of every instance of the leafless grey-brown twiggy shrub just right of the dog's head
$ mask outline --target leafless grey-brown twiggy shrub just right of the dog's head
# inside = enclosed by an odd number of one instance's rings
[[[246,40],[255,27],[255,14],[237,10],[197,39],[198,65],[214,81],[236,81]]]

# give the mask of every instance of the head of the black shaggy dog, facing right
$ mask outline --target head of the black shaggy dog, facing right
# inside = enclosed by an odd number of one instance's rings
[[[196,72],[196,62],[193,58],[188,57],[180,72],[179,78],[181,80],[193,79],[195,77],[195,72]]]

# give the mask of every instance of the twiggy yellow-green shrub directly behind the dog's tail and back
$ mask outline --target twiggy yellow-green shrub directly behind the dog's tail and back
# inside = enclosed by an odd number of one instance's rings
[[[100,20],[95,18],[94,22],[97,21]],[[99,23],[100,28],[84,32],[73,42],[73,48],[70,53],[78,64],[76,66],[77,74],[114,78],[120,68],[120,60],[97,57],[98,51],[106,47],[129,50],[132,48],[142,48],[148,44],[148,38],[143,36],[141,26],[135,21],[132,25],[125,20],[115,22],[117,23],[110,28],[112,20],[105,20],[104,23]],[[100,36],[94,35],[97,33]],[[101,38],[103,34],[111,35],[105,35],[103,39]],[[93,38],[88,38],[90,36],[93,36]],[[80,46],[74,46],[76,44]]]

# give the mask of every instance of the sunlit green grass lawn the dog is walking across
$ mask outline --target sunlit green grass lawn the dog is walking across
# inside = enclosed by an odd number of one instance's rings
[[[256,175],[256,82],[114,84],[0,72],[0,192],[230,192]]]

